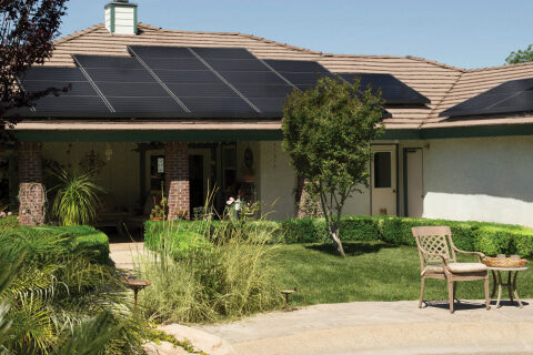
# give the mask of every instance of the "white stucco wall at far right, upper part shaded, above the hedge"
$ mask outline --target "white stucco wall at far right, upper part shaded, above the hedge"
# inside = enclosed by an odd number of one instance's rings
[[[428,143],[424,217],[533,225],[533,136]]]

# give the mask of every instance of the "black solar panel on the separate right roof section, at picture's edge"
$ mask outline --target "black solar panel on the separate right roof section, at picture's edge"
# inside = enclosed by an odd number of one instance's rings
[[[533,78],[504,82],[441,112],[440,116],[521,113],[533,111]]]

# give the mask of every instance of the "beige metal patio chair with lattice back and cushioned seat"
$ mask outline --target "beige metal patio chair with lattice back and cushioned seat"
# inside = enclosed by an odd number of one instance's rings
[[[411,229],[419,247],[421,286],[419,307],[422,307],[424,297],[425,278],[445,280],[447,282],[447,296],[450,313],[453,313],[456,282],[485,281],[485,306],[490,310],[489,298],[489,270],[481,261],[485,255],[480,252],[465,252],[455,247],[452,232],[449,226],[414,226]],[[455,252],[477,256],[477,263],[457,263]]]

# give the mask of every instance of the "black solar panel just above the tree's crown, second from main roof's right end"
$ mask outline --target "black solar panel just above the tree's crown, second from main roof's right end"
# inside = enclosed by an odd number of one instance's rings
[[[316,85],[322,77],[333,77],[328,69],[315,61],[269,59],[265,62],[301,91]]]

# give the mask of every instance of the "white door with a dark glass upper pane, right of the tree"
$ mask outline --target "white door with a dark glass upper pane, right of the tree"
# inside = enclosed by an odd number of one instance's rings
[[[375,145],[371,164],[372,215],[396,214],[396,148]]]

